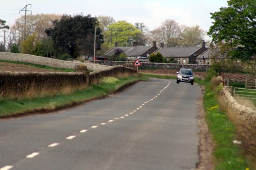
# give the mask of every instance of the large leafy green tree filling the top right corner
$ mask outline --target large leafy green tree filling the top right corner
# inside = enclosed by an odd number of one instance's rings
[[[230,43],[233,58],[247,60],[256,55],[255,6],[255,0],[229,0],[228,7],[211,13],[214,22],[207,34],[215,43]]]

